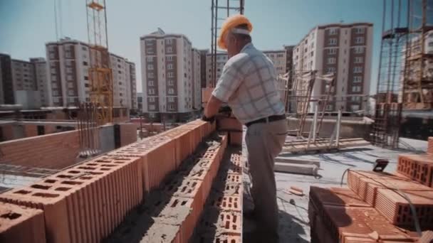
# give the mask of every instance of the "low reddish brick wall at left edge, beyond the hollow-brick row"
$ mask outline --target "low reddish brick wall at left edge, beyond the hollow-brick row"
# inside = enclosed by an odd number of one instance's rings
[[[0,143],[1,163],[61,169],[75,163],[80,149],[78,131],[33,136]]]

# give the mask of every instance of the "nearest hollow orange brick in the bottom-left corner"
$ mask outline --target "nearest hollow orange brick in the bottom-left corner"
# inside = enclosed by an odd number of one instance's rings
[[[0,242],[45,243],[42,210],[0,202]]]

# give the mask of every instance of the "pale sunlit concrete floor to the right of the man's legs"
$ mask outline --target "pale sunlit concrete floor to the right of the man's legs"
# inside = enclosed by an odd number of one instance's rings
[[[287,141],[290,141],[288,137]],[[377,146],[359,146],[345,148],[340,151],[292,154],[281,153],[281,157],[296,158],[305,161],[320,161],[318,176],[300,175],[294,173],[275,173],[277,185],[277,202],[279,214],[280,242],[310,242],[310,225],[308,222],[308,194],[311,185],[323,188],[340,187],[341,177],[348,168],[353,170],[371,170],[377,158],[387,158],[390,163],[385,171],[395,172],[399,153],[424,153],[427,141],[414,139],[400,139],[400,149],[390,150]],[[245,148],[243,148],[245,151]],[[346,175],[347,176],[347,173]],[[244,171],[244,186],[249,186],[249,176]],[[291,186],[303,189],[303,196],[288,193]],[[347,188],[346,178],[343,187]],[[247,190],[244,190],[247,192]],[[244,193],[244,212],[252,208],[251,197]],[[256,227],[255,222],[244,217],[244,242],[250,242],[251,231]]]

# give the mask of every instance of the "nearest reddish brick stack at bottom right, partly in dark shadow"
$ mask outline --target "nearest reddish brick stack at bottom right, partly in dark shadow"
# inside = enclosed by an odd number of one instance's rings
[[[385,219],[377,210],[362,202],[345,188],[311,187],[308,217],[311,242],[416,242]]]

